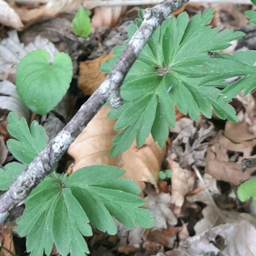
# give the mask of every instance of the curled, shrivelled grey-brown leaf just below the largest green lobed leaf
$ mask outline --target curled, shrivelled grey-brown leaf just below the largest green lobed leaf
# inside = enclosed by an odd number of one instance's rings
[[[177,133],[177,137],[172,140],[170,157],[182,168],[189,168],[193,164],[204,167],[209,141],[216,134],[214,125],[207,120],[194,122],[189,118],[181,118],[170,131]]]

